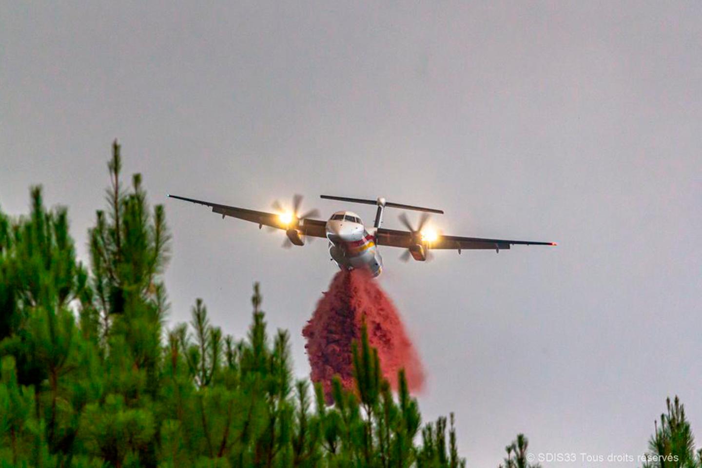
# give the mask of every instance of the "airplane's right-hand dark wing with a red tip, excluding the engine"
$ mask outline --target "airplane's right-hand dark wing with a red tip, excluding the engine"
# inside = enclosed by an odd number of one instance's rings
[[[378,229],[376,233],[376,243],[379,246],[402,247],[409,248],[414,241],[412,233],[409,231],[396,231],[395,229]],[[443,236],[439,237],[430,243],[430,250],[449,249],[449,250],[475,250],[475,249],[508,249],[512,245],[525,246],[555,246],[555,242],[536,242],[536,241],[510,241],[505,239],[483,239],[481,237],[461,237],[461,236]]]

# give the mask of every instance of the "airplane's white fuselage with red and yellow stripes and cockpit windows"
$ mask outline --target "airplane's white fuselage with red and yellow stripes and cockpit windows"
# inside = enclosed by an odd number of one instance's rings
[[[337,211],[331,215],[326,222],[326,237],[329,239],[329,255],[339,268],[366,268],[373,276],[383,271],[375,228],[369,233],[356,213]]]

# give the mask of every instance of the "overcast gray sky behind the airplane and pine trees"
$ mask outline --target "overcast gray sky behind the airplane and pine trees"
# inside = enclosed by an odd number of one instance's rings
[[[319,194],[385,196],[443,208],[447,234],[559,241],[383,250],[424,417],[455,411],[474,467],[517,432],[636,455],[679,394],[702,442],[702,4],[282,3],[0,1],[2,208],[43,183],[86,258],[119,138],[166,204],[171,320],[203,297],[241,337],[259,280],[300,376],[324,242],[283,250],[166,193],[266,210],[300,192],[325,216],[343,205]]]

